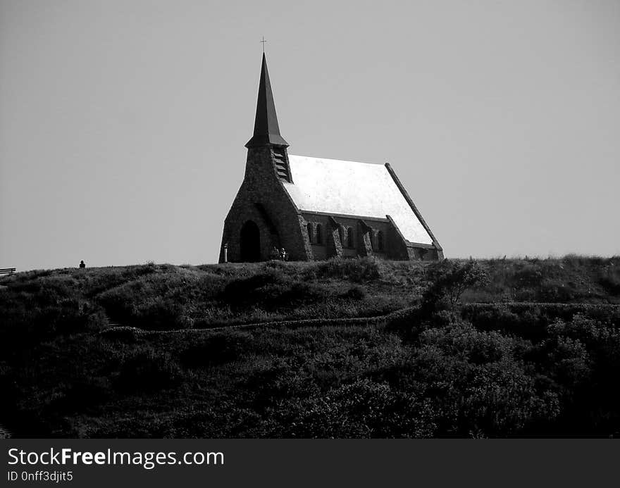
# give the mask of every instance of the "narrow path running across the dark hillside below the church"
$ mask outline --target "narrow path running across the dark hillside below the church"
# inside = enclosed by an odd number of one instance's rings
[[[493,302],[470,302],[467,304],[462,304],[463,306],[467,305],[495,305],[495,306],[513,306],[513,305],[522,305],[522,306],[581,306],[583,308],[597,308],[597,307],[605,307],[605,308],[620,308],[618,304],[565,304],[565,303],[555,303],[555,302],[543,302],[543,301],[510,301],[510,302],[501,302],[501,303],[493,303]],[[303,327],[305,326],[313,326],[313,325],[355,325],[355,324],[375,324],[383,322],[384,320],[393,320],[395,318],[404,318],[412,311],[418,310],[417,307],[407,307],[400,308],[399,310],[386,313],[385,315],[374,315],[372,317],[345,317],[345,318],[304,318],[299,320],[274,320],[271,322],[253,322],[246,324],[237,324],[237,325],[222,325],[220,327],[203,327],[197,329],[173,329],[173,330],[144,330],[138,327],[130,327],[128,325],[120,325],[118,322],[114,322],[109,320],[108,329],[102,330],[100,334],[108,334],[114,332],[133,332],[135,334],[140,335],[159,335],[159,334],[195,334],[197,332],[218,332],[221,330],[230,330],[230,329],[252,329],[252,328],[263,328],[263,327]]]

